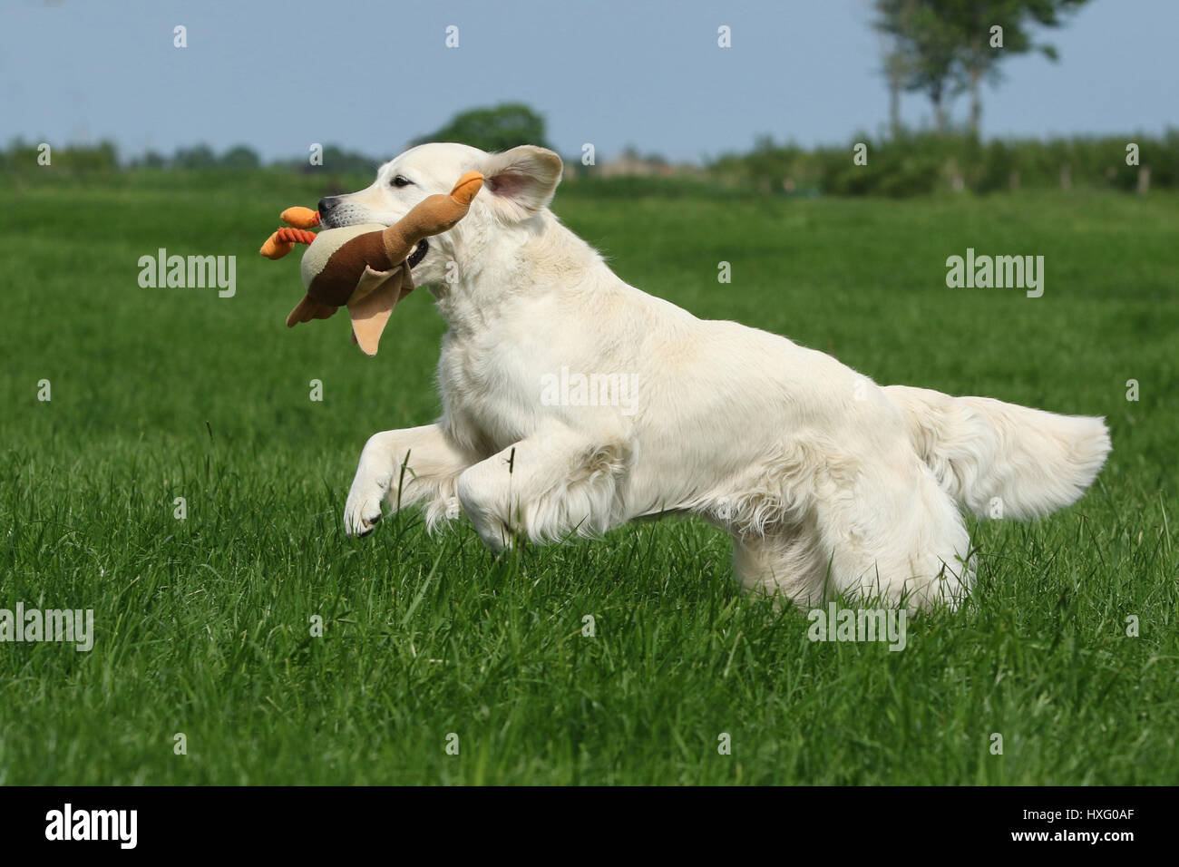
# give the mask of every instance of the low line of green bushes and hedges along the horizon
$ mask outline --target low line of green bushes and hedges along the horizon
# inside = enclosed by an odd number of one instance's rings
[[[881,5],[883,7],[883,4]],[[914,8],[897,5],[896,8]],[[545,119],[519,103],[472,109],[419,140],[461,142],[482,150],[507,150],[518,144],[548,146]],[[0,171],[35,171],[42,145],[14,142],[0,150]],[[1129,149],[1129,150],[1127,150]],[[330,172],[371,176],[380,160],[363,153],[327,145],[322,165],[309,155],[263,164],[256,151],[236,145],[217,152],[208,145],[178,147],[170,156],[149,151],[120,162],[114,144],[58,146],[52,165],[66,173],[131,170],[265,169],[301,173]],[[992,139],[982,142],[969,124],[948,121],[934,130],[914,131],[900,124],[889,134],[863,133],[844,145],[802,147],[757,140],[747,152],[726,153],[704,166],[673,166],[658,155],[641,156],[630,149],[613,160],[584,166],[579,156],[566,160],[571,179],[646,195],[678,184],[677,195],[704,188],[785,195],[922,196],[948,191],[979,193],[1073,185],[1119,190],[1179,188],[1179,130],[1161,136],[1076,136],[1072,138]],[[634,178],[645,176],[643,183]],[[648,177],[647,177],[648,176]],[[656,177],[658,176],[658,177]],[[607,179],[608,178],[608,179]],[[630,178],[630,179],[628,179]],[[660,186],[663,184],[664,186]]]

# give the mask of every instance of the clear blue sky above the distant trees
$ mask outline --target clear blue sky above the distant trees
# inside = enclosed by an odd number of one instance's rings
[[[388,158],[460,110],[525,101],[566,155],[842,144],[888,117],[870,22],[870,0],[0,0],[0,143]],[[1179,0],[1091,0],[1041,38],[1060,61],[1002,65],[986,137],[1179,126]],[[917,94],[902,113],[931,117]]]

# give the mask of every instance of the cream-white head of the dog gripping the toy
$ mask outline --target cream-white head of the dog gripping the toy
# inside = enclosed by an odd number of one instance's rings
[[[419,244],[409,257],[415,284],[443,283],[463,235],[487,238],[493,226],[526,221],[548,206],[561,179],[559,156],[533,145],[502,153],[461,144],[419,145],[382,165],[371,186],[320,199],[320,218],[327,228],[393,225],[427,196],[449,192],[468,171],[482,172],[485,178],[470,211],[450,231]]]

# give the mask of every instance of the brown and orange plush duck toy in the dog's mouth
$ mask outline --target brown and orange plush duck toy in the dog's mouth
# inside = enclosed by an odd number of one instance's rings
[[[428,196],[390,226],[363,223],[315,234],[320,215],[309,208],[288,208],[283,228],[266,238],[259,252],[282,258],[295,244],[309,244],[303,254],[302,277],[307,295],[286,317],[286,327],[328,318],[347,306],[353,320],[353,342],[376,355],[381,333],[394,306],[414,288],[410,268],[428,247],[424,242],[453,228],[467,216],[470,202],[483,185],[477,171],[467,172],[449,195]],[[410,256],[410,251],[414,256]]]

